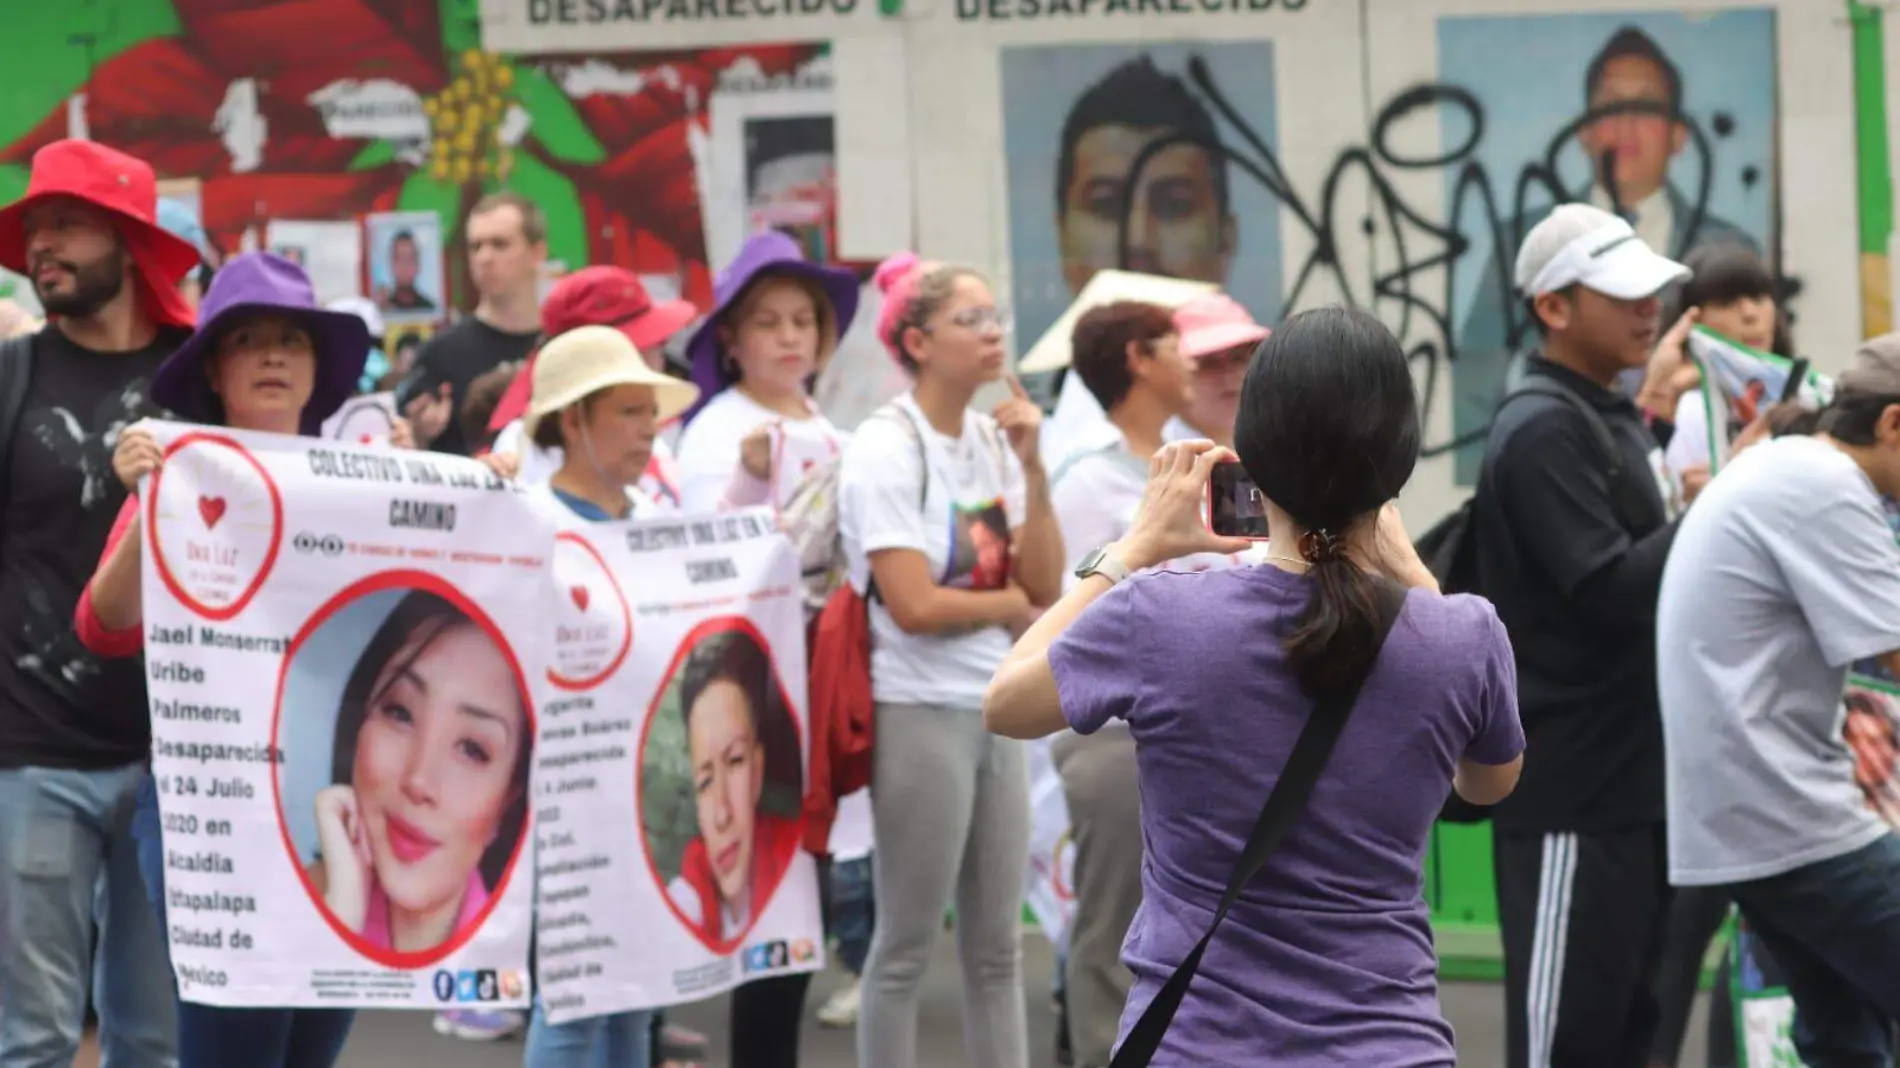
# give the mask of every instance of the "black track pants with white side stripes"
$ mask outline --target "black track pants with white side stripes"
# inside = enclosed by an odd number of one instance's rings
[[[1668,920],[1662,825],[1492,838],[1509,1068],[1644,1068]]]

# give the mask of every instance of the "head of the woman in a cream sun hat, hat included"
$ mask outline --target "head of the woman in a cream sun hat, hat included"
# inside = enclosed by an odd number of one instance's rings
[[[699,388],[654,371],[625,333],[580,327],[534,361],[524,433],[560,448],[549,488],[589,521],[625,519],[644,500],[640,473],[659,428],[699,399]]]

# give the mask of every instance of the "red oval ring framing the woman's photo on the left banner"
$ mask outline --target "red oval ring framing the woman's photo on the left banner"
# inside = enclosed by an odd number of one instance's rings
[[[346,606],[372,593],[386,593],[391,589],[420,589],[424,593],[433,593],[441,597],[443,601],[460,608],[462,614],[466,614],[469,621],[481,627],[483,633],[488,635],[488,640],[492,640],[494,646],[502,650],[502,658],[507,661],[509,675],[515,677],[515,686],[521,690],[521,707],[528,716],[526,724],[528,760],[532,766],[534,741],[540,737],[540,728],[536,726],[534,694],[532,690],[528,690],[528,677],[521,671],[521,661],[515,658],[513,646],[509,646],[507,639],[502,637],[502,629],[494,625],[494,620],[490,620],[486,612],[483,612],[473,601],[469,601],[467,595],[464,595],[454,585],[448,585],[448,582],[443,580],[441,576],[418,570],[378,572],[369,578],[357,580],[355,583],[344,587],[334,597],[325,601],[323,606],[310,616],[310,620],[302,625],[302,629],[296,631],[296,637],[291,639],[289,652],[283,656],[283,667],[277,671],[277,699],[276,699],[276,709],[272,711],[270,716],[270,747],[281,753],[279,739],[283,732],[283,690],[285,684],[289,684],[291,680],[291,665],[296,663],[296,654],[304,648],[304,642],[308,642],[319,629],[323,629],[323,623],[327,623],[331,616],[342,612]],[[369,941],[363,939],[363,935],[357,935],[355,931],[346,927],[340,920],[336,920],[329,905],[323,903],[323,895],[317,893],[317,886],[310,882],[310,872],[304,870],[304,863],[296,855],[296,842],[291,840],[291,823],[283,817],[283,764],[279,764],[276,773],[270,777],[270,792],[272,800],[277,804],[277,832],[283,836],[283,851],[291,855],[291,867],[296,868],[296,880],[304,886],[304,893],[310,897],[310,903],[317,908],[317,916],[323,916],[323,922],[329,924],[331,929],[336,931],[336,937],[348,943],[350,948],[386,967],[399,967],[399,969],[429,967],[431,963],[439,963],[456,950],[460,950],[462,946],[466,946],[469,939],[473,939],[475,933],[488,924],[488,916],[494,912],[496,905],[500,905],[502,899],[507,895],[507,884],[509,880],[515,878],[515,865],[521,861],[521,848],[528,842],[528,838],[534,836],[534,796],[530,791],[526,798],[528,804],[526,815],[521,823],[521,836],[515,840],[515,849],[507,855],[507,865],[502,868],[502,878],[496,880],[494,889],[488,891],[488,901],[486,905],[483,905],[481,912],[475,914],[475,920],[471,924],[464,924],[462,927],[458,927],[448,937],[448,941],[445,941],[435,948],[416,950],[416,952],[386,950],[382,946],[370,944]]]

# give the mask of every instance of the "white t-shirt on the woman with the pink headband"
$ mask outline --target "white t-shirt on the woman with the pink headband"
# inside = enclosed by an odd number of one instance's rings
[[[838,532],[851,585],[861,593],[870,585],[872,553],[916,549],[939,585],[1001,589],[1009,582],[1009,540],[1028,513],[1015,450],[990,416],[965,410],[963,433],[946,437],[931,428],[910,393],[893,407],[901,412],[859,424],[838,469]],[[916,428],[902,422],[904,414]],[[874,601],[872,696],[887,703],[978,709],[1009,646],[1005,627],[906,635]]]

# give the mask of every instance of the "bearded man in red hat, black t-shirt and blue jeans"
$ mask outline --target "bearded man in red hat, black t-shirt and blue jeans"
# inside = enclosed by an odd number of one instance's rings
[[[152,167],[89,141],[40,148],[0,209],[0,266],[48,317],[0,350],[0,1068],[70,1066],[93,990],[106,1064],[177,1064],[131,840],[152,789],[142,661],[99,661],[72,633],[125,498],[112,448],[156,414],[146,384],[192,323],[179,281],[198,251],[156,209]]]

